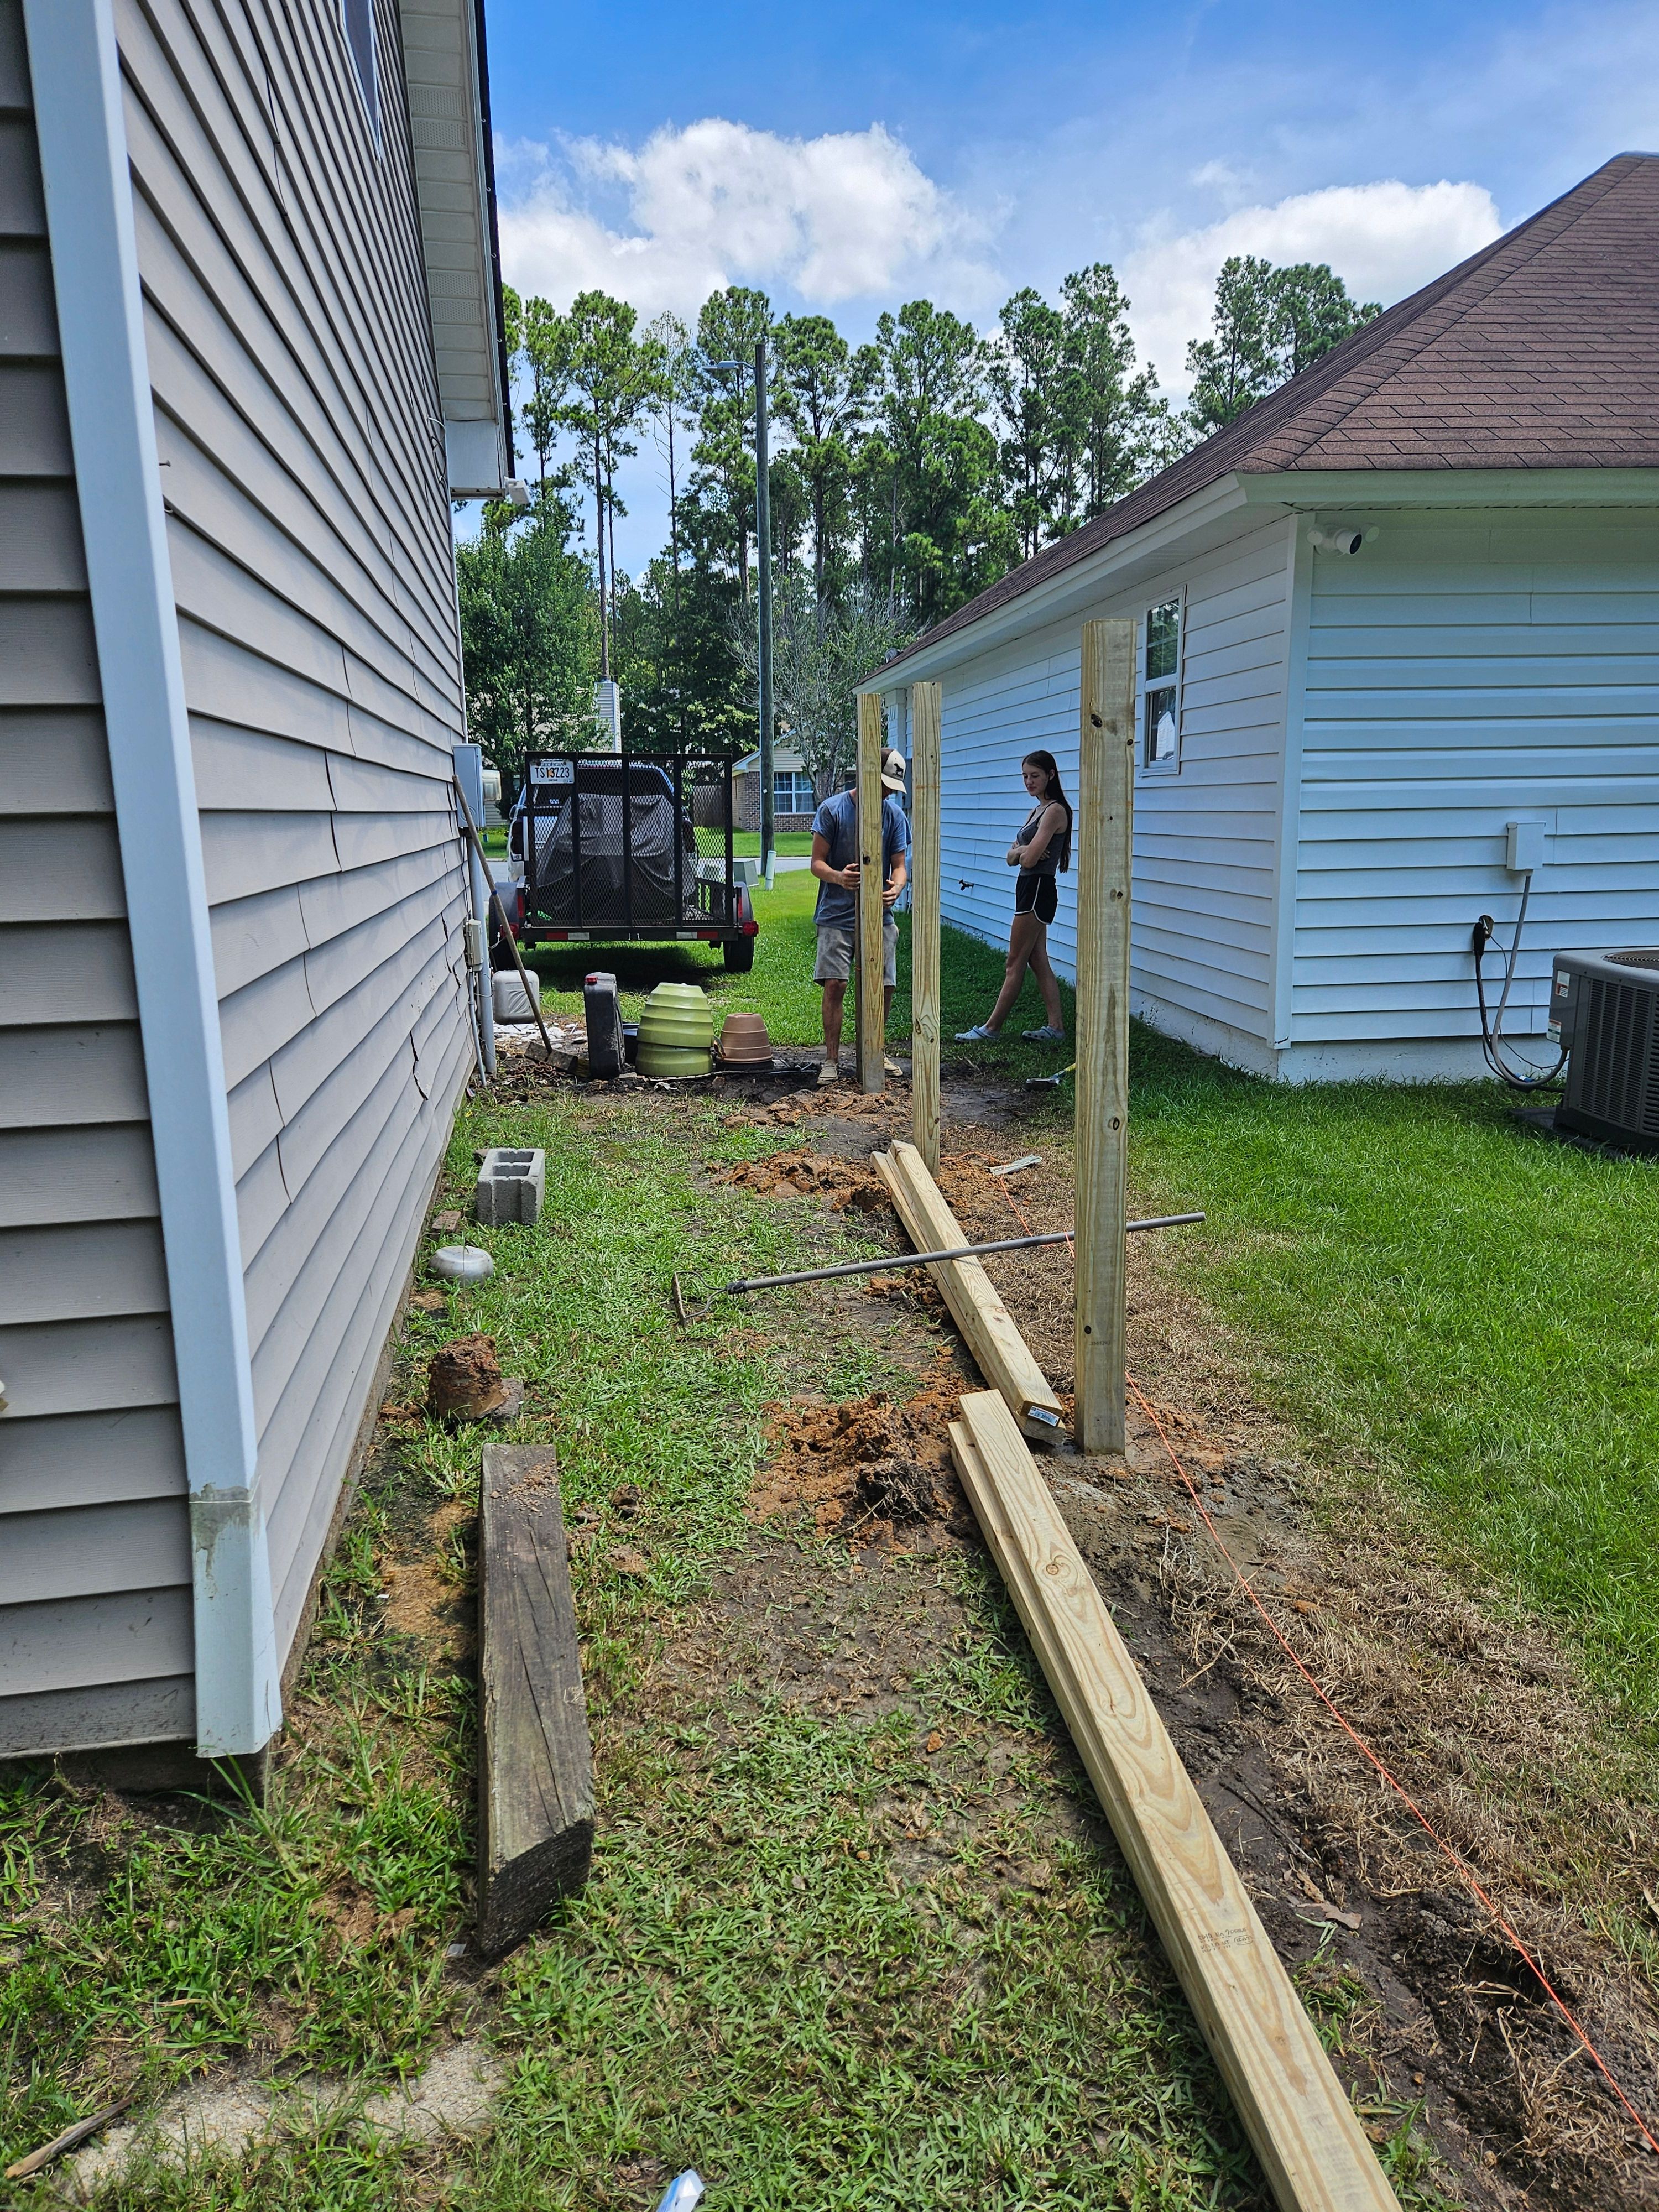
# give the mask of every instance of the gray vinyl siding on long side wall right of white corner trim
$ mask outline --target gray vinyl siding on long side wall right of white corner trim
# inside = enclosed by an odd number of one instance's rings
[[[259,1486],[301,1619],[471,1062],[456,586],[396,9],[117,0]]]

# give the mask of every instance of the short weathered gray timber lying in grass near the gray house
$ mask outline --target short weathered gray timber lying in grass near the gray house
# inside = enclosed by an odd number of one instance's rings
[[[588,1708],[549,1444],[484,1444],[478,1644],[478,1949],[500,1958],[582,1887],[593,1858]]]

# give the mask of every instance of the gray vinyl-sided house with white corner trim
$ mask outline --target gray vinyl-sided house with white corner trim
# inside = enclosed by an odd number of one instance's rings
[[[257,1754],[473,1064],[476,0],[0,0],[0,1756]]]

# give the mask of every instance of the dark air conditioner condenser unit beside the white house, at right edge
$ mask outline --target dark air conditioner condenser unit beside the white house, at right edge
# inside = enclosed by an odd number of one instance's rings
[[[1659,1152],[1659,945],[1557,953],[1551,1035],[1571,1055],[1555,1128]]]

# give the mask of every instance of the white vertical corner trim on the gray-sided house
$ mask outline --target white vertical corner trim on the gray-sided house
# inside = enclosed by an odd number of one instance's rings
[[[190,1482],[197,1750],[281,1725],[237,1186],[111,0],[24,0]]]

